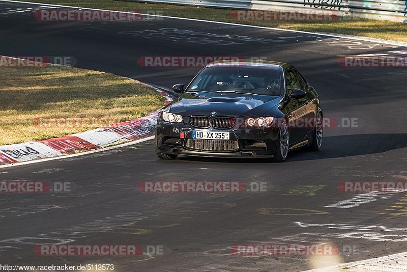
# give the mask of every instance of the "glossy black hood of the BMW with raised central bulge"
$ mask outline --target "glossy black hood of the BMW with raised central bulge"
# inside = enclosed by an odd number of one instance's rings
[[[184,93],[173,101],[170,111],[182,116],[263,116],[280,103],[280,96],[236,93]]]

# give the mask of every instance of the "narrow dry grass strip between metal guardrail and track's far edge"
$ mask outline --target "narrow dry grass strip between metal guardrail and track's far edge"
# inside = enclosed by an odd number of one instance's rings
[[[178,6],[168,4],[135,3],[120,0],[36,0],[45,4],[99,8],[108,10],[160,11],[160,15],[222,22],[243,23],[272,28],[308,32],[338,33],[369,38],[407,42],[407,23],[382,20],[357,19],[335,21],[236,21],[231,18],[231,10]]]

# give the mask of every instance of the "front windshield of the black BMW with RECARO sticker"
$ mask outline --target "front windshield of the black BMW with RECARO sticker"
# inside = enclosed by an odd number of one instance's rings
[[[281,95],[278,70],[247,67],[208,67],[189,85],[187,92],[231,92],[253,95]]]

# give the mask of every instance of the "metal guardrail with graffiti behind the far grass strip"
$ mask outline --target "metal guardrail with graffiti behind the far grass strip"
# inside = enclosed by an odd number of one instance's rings
[[[239,10],[335,11],[339,16],[407,23],[406,0],[130,0]]]

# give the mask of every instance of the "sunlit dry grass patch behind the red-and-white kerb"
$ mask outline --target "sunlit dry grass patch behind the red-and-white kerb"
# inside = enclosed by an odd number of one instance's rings
[[[165,98],[113,74],[0,67],[0,145],[62,137],[151,113]]]

